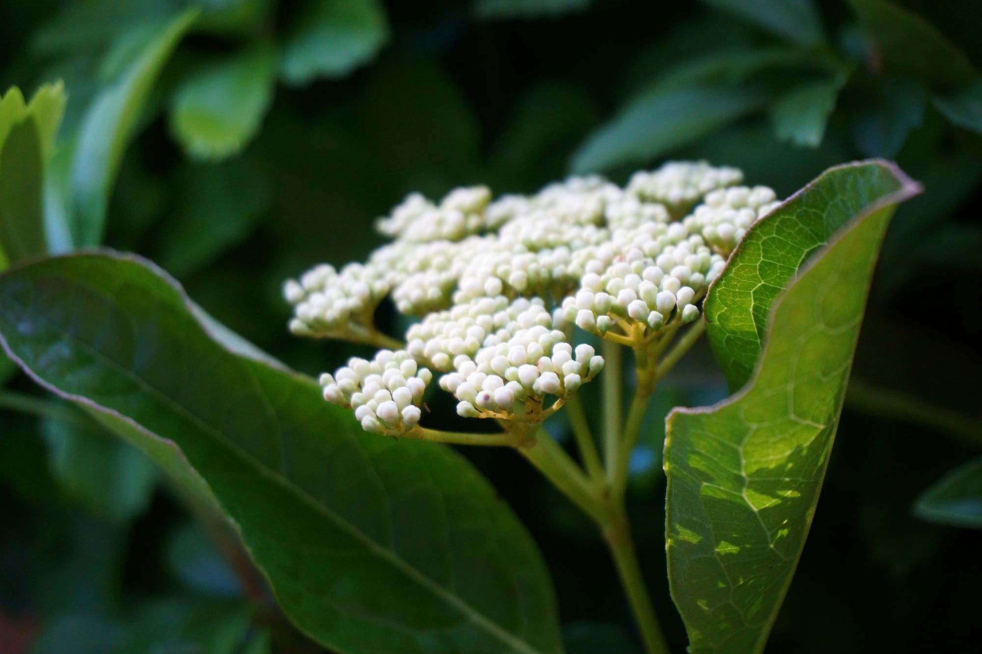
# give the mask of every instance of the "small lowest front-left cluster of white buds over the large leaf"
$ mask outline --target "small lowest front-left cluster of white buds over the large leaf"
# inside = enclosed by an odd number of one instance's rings
[[[419,422],[423,391],[432,378],[408,352],[381,350],[370,361],[353,356],[333,375],[325,372],[320,385],[325,400],[355,409],[365,431],[402,436]]]

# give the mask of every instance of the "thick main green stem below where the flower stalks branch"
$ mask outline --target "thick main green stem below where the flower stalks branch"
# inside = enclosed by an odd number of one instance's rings
[[[668,643],[665,642],[665,635],[658,624],[651,597],[644,586],[644,577],[637,562],[637,552],[630,536],[624,504],[620,501],[616,502],[615,507],[608,510],[608,521],[602,525],[604,540],[614,558],[634,620],[641,630],[645,651],[648,654],[668,654]]]

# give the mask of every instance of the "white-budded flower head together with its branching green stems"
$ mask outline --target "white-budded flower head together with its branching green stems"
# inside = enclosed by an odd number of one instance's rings
[[[659,380],[705,330],[707,291],[747,230],[780,204],[770,188],[742,182],[735,168],[669,162],[624,188],[593,176],[527,196],[471,187],[433,202],[414,193],[376,223],[393,243],[284,288],[293,333],[383,347],[320,377],[324,399],[352,409],[364,431],[514,448],[592,518],[650,652],[668,648],[631,542],[628,466]],[[390,296],[418,318],[403,340],[373,322]],[[460,416],[498,429],[425,426],[434,374]],[[604,385],[599,450],[578,394],[595,380]],[[562,409],[578,463],[543,427]]]

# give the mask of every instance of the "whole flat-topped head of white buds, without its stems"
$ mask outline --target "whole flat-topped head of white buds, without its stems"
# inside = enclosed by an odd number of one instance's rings
[[[367,431],[407,433],[430,369],[464,417],[538,421],[604,366],[574,345],[574,326],[638,349],[698,317],[725,256],[774,206],[773,191],[741,181],[734,168],[670,162],[623,189],[589,176],[497,199],[486,187],[439,203],[411,194],[377,221],[395,241],[367,262],[287,282],[290,326],[370,342],[386,297],[421,317],[405,350],[322,376],[324,397]]]

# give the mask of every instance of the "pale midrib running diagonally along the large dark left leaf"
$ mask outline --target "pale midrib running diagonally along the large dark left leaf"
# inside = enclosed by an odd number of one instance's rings
[[[96,358],[101,359],[104,362],[108,363],[110,366],[120,370],[124,376],[133,379],[133,381],[136,383],[137,386],[145,389],[148,393],[159,398],[165,405],[169,405],[173,407],[178,413],[185,415],[187,419],[191,421],[191,423],[195,424],[204,433],[211,435],[212,438],[218,440],[220,444],[223,444],[227,449],[231,450],[236,455],[238,455],[240,459],[252,465],[256,469],[256,471],[259,472],[259,474],[266,476],[267,478],[271,479],[272,481],[276,482],[277,484],[285,488],[287,491],[297,495],[302,502],[309,505],[316,512],[322,514],[329,521],[335,522],[336,524],[341,526],[345,531],[347,531],[350,535],[352,535],[358,542],[362,543],[372,554],[376,555],[377,557],[379,557],[384,561],[387,561],[394,568],[406,574],[410,579],[416,581],[419,585],[423,586],[437,597],[443,599],[447,604],[460,611],[468,621],[470,621],[477,627],[483,628],[492,636],[508,644],[510,647],[514,648],[514,651],[523,652],[524,654],[545,654],[541,650],[533,648],[531,645],[529,645],[524,640],[518,638],[518,636],[516,636],[512,632],[507,631],[504,627],[500,627],[497,623],[492,621],[490,618],[487,618],[486,616],[484,616],[484,614],[480,613],[472,606],[470,606],[469,603],[467,603],[463,598],[458,596],[456,593],[451,592],[450,590],[444,588],[430,577],[426,576],[422,572],[419,572],[418,570],[413,568],[405,559],[400,557],[395,551],[387,547],[384,547],[378,544],[377,542],[375,542],[374,540],[372,540],[371,537],[369,537],[366,533],[361,531],[349,520],[339,516],[334,511],[329,509],[327,506],[318,502],[316,499],[311,497],[306,491],[301,489],[299,486],[293,484],[290,479],[284,477],[279,472],[272,470],[268,466],[261,463],[255,457],[253,457],[248,452],[246,452],[241,447],[239,447],[234,441],[231,441],[221,431],[218,431],[216,428],[212,427],[203,418],[195,415],[194,413],[191,412],[191,410],[186,409],[183,405],[178,403],[176,400],[171,398],[169,395],[167,395],[160,389],[152,386],[149,382],[147,382],[142,377],[137,375],[135,371],[126,367],[122,363],[119,363],[118,361],[111,358],[110,356],[107,356],[106,354],[102,354],[101,352],[90,346],[88,343],[86,343],[79,337],[55,325],[51,320],[47,319],[45,316],[42,316],[34,312],[33,310],[28,309],[26,306],[17,302],[16,300],[12,300],[9,296],[8,296],[8,300],[20,306],[21,309],[28,315],[32,315],[34,316],[35,319],[47,323],[50,328],[54,329],[57,333],[60,333],[63,336],[63,338],[68,338],[69,340],[74,341],[75,343],[77,343],[83,349],[87,350],[90,354],[92,354]],[[207,338],[207,335],[205,335],[205,337]],[[2,336],[0,336],[0,338],[2,338]],[[215,345],[216,347],[222,348],[220,344],[215,344]],[[226,354],[231,354],[235,356],[235,354],[229,353],[224,348],[222,348],[222,350]],[[261,363],[259,363],[258,361],[255,361],[255,363],[261,365]],[[52,384],[52,386],[58,388],[57,385],[55,384]],[[262,395],[263,397],[265,397],[265,393],[262,393]],[[97,409],[115,410],[115,409],[109,409],[108,407],[104,407],[100,403],[94,402],[91,399],[89,399],[89,401],[92,402]],[[137,424],[140,423],[137,421]],[[165,436],[160,436],[158,434],[158,437],[165,438],[166,440],[174,443],[172,439],[167,438]],[[174,445],[177,446],[177,443],[174,443]],[[180,446],[177,447],[180,449]]]

